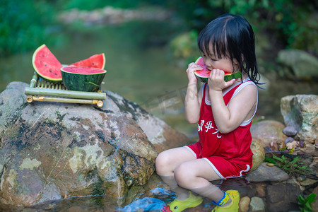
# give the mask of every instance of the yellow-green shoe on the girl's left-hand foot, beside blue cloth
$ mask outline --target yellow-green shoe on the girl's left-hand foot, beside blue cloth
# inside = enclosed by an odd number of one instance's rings
[[[201,196],[196,196],[192,194],[192,192],[189,192],[189,198],[185,199],[183,201],[179,199],[175,199],[170,204],[167,204],[167,206],[164,206],[161,211],[164,212],[179,212],[184,211],[186,208],[194,208],[196,206],[199,206],[201,204],[203,199]]]

